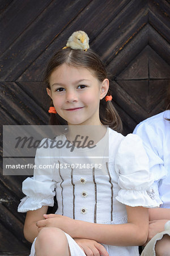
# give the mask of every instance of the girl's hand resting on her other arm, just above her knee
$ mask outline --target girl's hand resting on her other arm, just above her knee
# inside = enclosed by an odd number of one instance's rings
[[[45,220],[40,220],[36,222],[38,232],[40,232],[42,228],[56,227],[62,229],[71,237],[76,237],[76,220],[73,220],[73,218],[69,218],[59,214],[44,214],[43,216]]]

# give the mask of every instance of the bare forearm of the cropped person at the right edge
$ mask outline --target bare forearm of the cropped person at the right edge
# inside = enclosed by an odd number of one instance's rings
[[[153,220],[170,220],[170,209],[167,208],[154,208],[149,209],[149,219]]]

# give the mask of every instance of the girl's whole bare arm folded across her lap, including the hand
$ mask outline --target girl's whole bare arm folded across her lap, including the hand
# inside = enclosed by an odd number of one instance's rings
[[[143,245],[148,235],[148,208],[126,206],[126,210],[128,223],[116,225],[96,224],[49,214],[45,220],[37,222],[38,231],[45,226],[56,226],[73,238],[86,238],[108,245]]]

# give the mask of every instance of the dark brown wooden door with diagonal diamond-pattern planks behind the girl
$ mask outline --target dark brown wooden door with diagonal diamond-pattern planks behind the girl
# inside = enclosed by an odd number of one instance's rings
[[[1,0],[2,125],[49,123],[46,64],[74,31],[84,30],[111,74],[124,134],[131,133],[137,123],[165,108],[169,14],[169,0]],[[2,126],[0,147],[2,155]],[[17,212],[25,177],[2,175],[1,168],[0,255],[29,255],[22,231],[25,214]]]

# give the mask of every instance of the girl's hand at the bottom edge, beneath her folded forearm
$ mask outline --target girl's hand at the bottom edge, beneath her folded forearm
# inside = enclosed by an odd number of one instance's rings
[[[75,242],[78,243],[80,248],[84,251],[87,256],[109,256],[107,250],[101,243],[97,243],[94,240],[84,238],[74,238]]]

